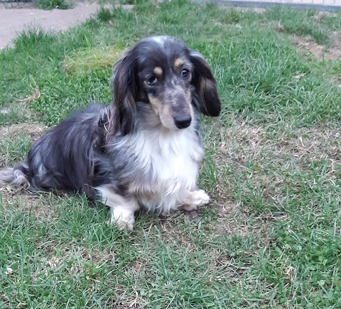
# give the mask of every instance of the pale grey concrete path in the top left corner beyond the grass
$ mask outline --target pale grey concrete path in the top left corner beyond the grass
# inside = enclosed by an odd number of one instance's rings
[[[0,9],[0,50],[7,45],[11,46],[13,38],[27,26],[63,31],[86,21],[99,8],[99,4],[79,3],[69,10]]]

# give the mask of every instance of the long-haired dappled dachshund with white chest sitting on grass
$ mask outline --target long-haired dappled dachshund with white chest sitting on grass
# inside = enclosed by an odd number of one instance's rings
[[[206,205],[210,197],[197,189],[200,114],[219,116],[221,102],[202,55],[178,38],[147,37],[117,61],[111,82],[111,104],[60,122],[0,180],[85,193],[109,206],[119,229],[134,228],[140,207],[166,215]]]

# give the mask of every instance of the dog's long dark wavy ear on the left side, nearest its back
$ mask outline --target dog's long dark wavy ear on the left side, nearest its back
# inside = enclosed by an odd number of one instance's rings
[[[133,51],[127,52],[114,65],[112,77],[112,104],[109,109],[109,136],[125,136],[136,125],[136,57]]]

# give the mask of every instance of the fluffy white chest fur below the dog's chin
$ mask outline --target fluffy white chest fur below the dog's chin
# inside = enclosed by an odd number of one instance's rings
[[[200,138],[191,126],[179,131],[141,131],[135,139],[136,168],[143,170],[134,191],[148,210],[169,212],[195,190],[203,157]]]

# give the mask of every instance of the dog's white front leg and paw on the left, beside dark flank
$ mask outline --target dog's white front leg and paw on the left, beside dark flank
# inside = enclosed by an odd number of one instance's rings
[[[123,197],[109,187],[102,185],[95,188],[101,195],[101,202],[110,207],[111,218],[109,224],[117,224],[119,229],[134,229],[135,212],[139,210],[139,203],[135,197]]]

